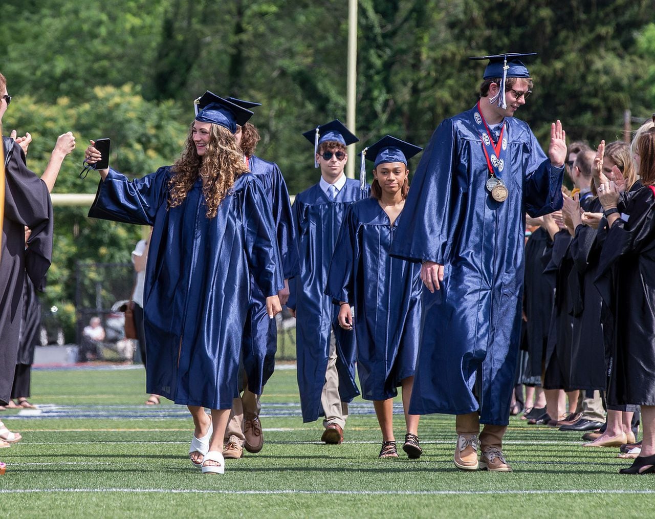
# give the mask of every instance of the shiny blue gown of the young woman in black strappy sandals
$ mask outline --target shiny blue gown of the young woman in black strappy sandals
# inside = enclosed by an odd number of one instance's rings
[[[421,265],[391,258],[398,228],[377,199],[346,211],[327,276],[326,294],[354,306],[362,398],[386,400],[414,375],[421,330]],[[352,333],[352,332],[350,332]]]

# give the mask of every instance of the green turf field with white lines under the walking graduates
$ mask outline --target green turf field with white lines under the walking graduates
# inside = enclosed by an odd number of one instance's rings
[[[320,443],[303,424],[294,370],[278,370],[262,397],[265,446],[227,460],[223,476],[187,459],[191,419],[145,406],[143,370],[33,372],[40,415],[0,413],[22,442],[0,450],[4,517],[645,517],[655,476],[622,476],[616,449],[582,448],[580,433],[512,419],[511,474],[458,471],[453,417],[423,417],[424,455],[378,459],[373,407],[356,400],[345,443]],[[396,417],[396,439],[403,419]]]

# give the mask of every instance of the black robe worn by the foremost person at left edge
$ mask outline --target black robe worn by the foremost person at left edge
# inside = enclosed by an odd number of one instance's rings
[[[31,172],[18,144],[11,148],[5,172],[5,220],[0,258],[0,404],[11,396],[20,321],[23,284],[28,275],[41,287],[52,257],[52,202],[45,183]],[[25,227],[32,231],[28,247]]]

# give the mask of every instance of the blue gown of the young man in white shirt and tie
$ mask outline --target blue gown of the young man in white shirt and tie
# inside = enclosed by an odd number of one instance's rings
[[[296,311],[295,341],[297,375],[303,421],[315,421],[322,412],[321,391],[329,356],[330,330],[337,343],[339,394],[350,402],[359,394],[355,383],[355,337],[339,326],[339,307],[324,294],[327,269],[332,258],[341,221],[352,202],[368,197],[357,180],[346,179],[335,201],[327,198],[320,184],[295,197],[293,225],[300,272],[290,283],[287,306]]]

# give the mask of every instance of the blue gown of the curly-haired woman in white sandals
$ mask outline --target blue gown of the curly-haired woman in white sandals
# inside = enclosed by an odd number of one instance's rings
[[[237,178],[211,220],[200,179],[168,208],[169,178],[170,166],[132,182],[110,170],[89,216],[153,226],[143,294],[147,392],[231,409],[250,273],[267,296],[283,286],[271,208],[252,174]]]

